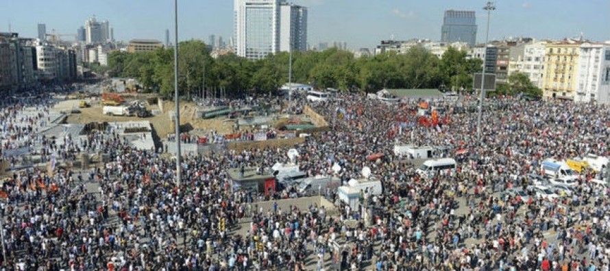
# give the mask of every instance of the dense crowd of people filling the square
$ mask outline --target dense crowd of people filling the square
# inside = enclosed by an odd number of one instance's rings
[[[438,126],[418,123],[417,101],[390,105],[339,95],[310,104],[330,129],[291,146],[300,154],[297,164],[309,176],[334,174],[343,182],[361,178],[369,167],[384,193],[363,195],[366,209],[350,208],[334,191],[327,193],[334,209],[277,203],[265,209],[261,200],[280,202],[298,194],[276,191],[265,197],[233,189],[228,169],[287,163],[287,148],[184,156],[178,185],[174,159],[137,150],[112,131],[49,139],[50,151],[95,150],[111,162],[86,172],[69,167],[53,174],[15,172],[5,180],[3,265],[8,270],[609,270],[608,191],[589,181],[605,172],[582,174],[572,196],[523,200],[505,193],[516,187],[528,191],[528,176],[541,174],[544,158],[609,156],[609,108],[513,98],[493,102],[483,115],[480,140],[476,114],[456,110],[459,104],[430,102],[450,116]],[[293,103],[305,101],[296,97]],[[10,118],[16,109],[7,110]],[[437,146],[434,155],[454,157],[458,167],[419,176],[414,161],[393,154],[397,143]],[[367,159],[378,153],[382,159]],[[339,172],[332,169],[335,164]]]

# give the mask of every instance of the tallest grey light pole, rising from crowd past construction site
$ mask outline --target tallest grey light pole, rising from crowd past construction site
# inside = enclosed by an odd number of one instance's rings
[[[180,187],[180,94],[178,93],[178,0],[173,0],[174,38],[173,45],[173,90],[175,100],[175,146],[176,146],[176,185]]]

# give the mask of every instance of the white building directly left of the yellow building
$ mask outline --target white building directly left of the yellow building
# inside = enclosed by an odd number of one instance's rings
[[[534,86],[542,88],[545,52],[546,42],[544,41],[511,47],[509,76],[517,72],[525,73]]]

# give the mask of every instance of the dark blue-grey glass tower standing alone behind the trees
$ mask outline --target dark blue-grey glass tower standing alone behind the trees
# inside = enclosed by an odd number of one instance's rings
[[[441,28],[441,41],[463,42],[473,47],[476,44],[476,12],[446,10]]]

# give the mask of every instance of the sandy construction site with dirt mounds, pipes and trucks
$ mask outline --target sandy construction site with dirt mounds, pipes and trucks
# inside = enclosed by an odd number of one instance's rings
[[[167,142],[175,134],[175,104],[164,101],[159,95],[139,93],[137,84],[126,80],[116,80],[106,86],[90,86],[89,91],[77,91],[58,97],[54,107],[66,115],[62,123],[136,123],[147,121],[150,132],[156,140],[157,148],[172,145]],[[111,92],[117,91],[117,92]],[[319,119],[311,117],[313,112],[286,115],[281,104],[256,104],[256,106],[235,106],[234,104],[196,104],[180,102],[180,130],[204,141],[193,141],[193,147],[185,153],[201,148],[202,142],[214,141],[210,134],[221,135],[223,141],[230,142],[237,149],[249,148],[255,143],[276,145],[278,141],[268,139],[291,139],[288,144],[302,141],[298,134],[310,129],[326,126]],[[270,134],[271,131],[271,134]],[[236,142],[247,141],[247,142]],[[259,142],[254,142],[259,141]],[[260,142],[265,141],[265,142]],[[218,140],[216,140],[218,142]],[[199,144],[197,144],[199,143]],[[240,144],[237,144],[240,143]],[[281,144],[281,143],[280,143]],[[184,144],[188,148],[188,144]],[[167,152],[175,152],[173,148]]]

